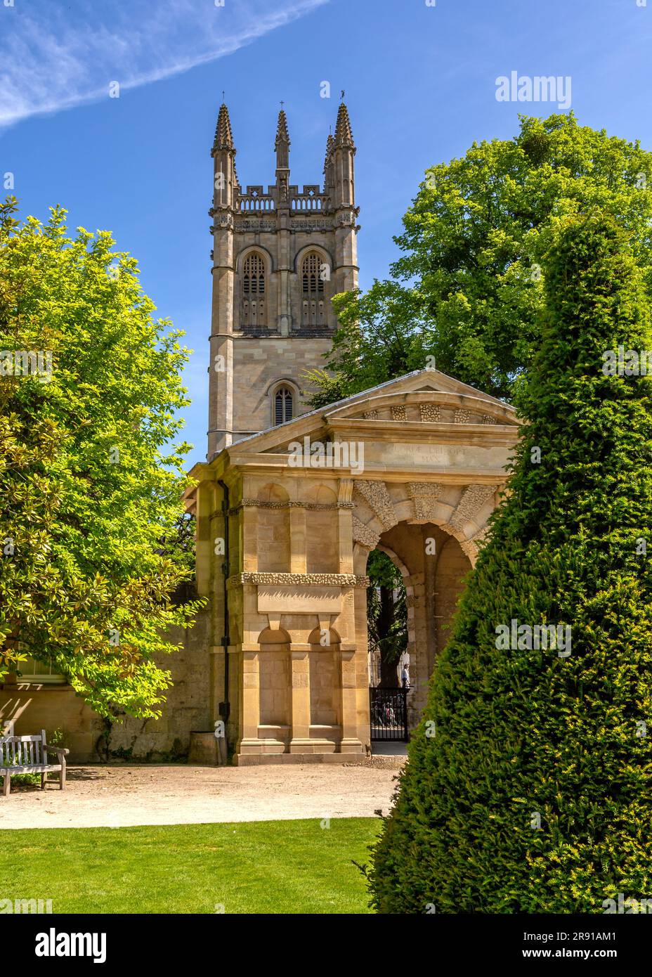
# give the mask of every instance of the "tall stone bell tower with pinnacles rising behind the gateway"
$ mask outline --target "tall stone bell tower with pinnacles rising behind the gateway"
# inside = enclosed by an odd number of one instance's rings
[[[353,156],[344,102],[326,143],[324,185],[290,183],[290,137],[276,126],[276,182],[242,191],[228,109],[215,142],[208,460],[306,412],[306,369],[323,367],[331,296],[357,286]]]

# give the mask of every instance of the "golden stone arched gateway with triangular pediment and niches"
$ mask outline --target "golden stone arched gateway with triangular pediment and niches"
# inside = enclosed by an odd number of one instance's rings
[[[423,370],[195,466],[211,720],[226,720],[237,763],[364,753],[365,573],[377,546],[406,584],[416,723],[516,439],[511,407]]]

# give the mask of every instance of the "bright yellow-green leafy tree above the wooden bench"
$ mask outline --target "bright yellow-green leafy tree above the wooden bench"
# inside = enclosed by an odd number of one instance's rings
[[[198,607],[171,603],[189,571],[161,545],[183,512],[187,351],[109,234],[16,207],[0,207],[0,673],[30,656],[102,715],[154,716],[165,629]]]

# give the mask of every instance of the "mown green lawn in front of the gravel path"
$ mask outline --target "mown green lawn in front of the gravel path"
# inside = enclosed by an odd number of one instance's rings
[[[4,899],[54,913],[369,913],[378,818],[0,831]]]

